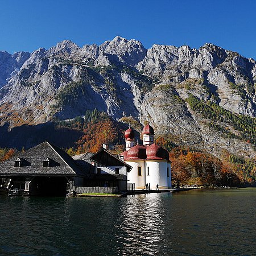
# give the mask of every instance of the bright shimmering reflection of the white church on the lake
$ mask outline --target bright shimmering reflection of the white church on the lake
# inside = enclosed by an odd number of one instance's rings
[[[120,208],[117,254],[156,255],[165,241],[163,201],[159,193],[129,196]]]

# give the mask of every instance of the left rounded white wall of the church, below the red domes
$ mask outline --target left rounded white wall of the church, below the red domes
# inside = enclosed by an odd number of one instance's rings
[[[135,189],[144,189],[144,161],[127,161],[132,166],[130,172],[127,173],[127,183],[135,183]],[[138,175],[138,168],[141,167],[141,176]]]

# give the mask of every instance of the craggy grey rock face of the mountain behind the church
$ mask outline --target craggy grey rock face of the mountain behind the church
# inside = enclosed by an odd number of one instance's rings
[[[116,120],[150,121],[157,135],[215,155],[226,149],[255,156],[244,137],[224,138],[187,103],[192,94],[254,118],[255,82],[255,60],[209,43],[199,49],[155,44],[145,49],[137,40],[117,36],[80,48],[64,40],[31,54],[0,52],[0,125],[9,130],[40,125],[97,108]]]

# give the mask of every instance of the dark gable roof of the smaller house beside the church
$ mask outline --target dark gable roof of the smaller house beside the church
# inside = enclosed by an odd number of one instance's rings
[[[126,166],[128,172],[130,172],[132,168],[129,164],[106,151],[105,148],[102,148],[96,154],[91,156],[90,159],[96,163],[102,164],[102,166]]]

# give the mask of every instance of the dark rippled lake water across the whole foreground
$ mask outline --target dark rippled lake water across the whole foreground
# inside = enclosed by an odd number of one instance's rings
[[[256,189],[0,196],[0,255],[256,255]]]

